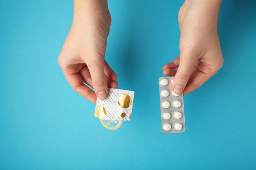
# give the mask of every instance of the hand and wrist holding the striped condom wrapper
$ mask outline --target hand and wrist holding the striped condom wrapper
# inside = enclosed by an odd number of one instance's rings
[[[107,0],[74,0],[74,19],[58,64],[72,88],[90,100],[117,88],[117,75],[105,61],[111,16]],[[94,91],[88,86],[94,88]]]

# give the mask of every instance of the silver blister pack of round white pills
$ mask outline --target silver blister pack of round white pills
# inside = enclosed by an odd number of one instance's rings
[[[172,90],[174,77],[159,78],[159,94],[162,131],[182,133],[185,131],[183,93],[176,95]]]

